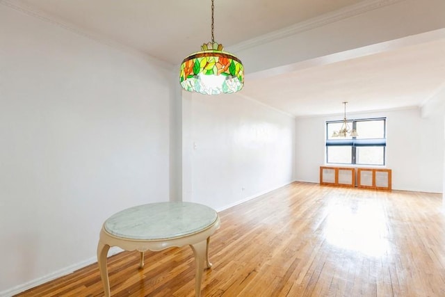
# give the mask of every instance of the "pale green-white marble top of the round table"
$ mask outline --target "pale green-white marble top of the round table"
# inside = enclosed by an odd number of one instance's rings
[[[173,239],[204,230],[217,218],[215,210],[202,204],[158,202],[124,209],[108,218],[104,229],[126,239]]]

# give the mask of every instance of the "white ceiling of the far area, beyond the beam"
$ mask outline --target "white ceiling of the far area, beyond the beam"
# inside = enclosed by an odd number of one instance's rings
[[[246,81],[243,95],[295,116],[341,113],[345,101],[350,112],[421,106],[445,87],[444,56],[435,40]]]

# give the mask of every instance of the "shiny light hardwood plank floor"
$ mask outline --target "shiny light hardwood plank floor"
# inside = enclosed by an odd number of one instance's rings
[[[444,213],[439,194],[284,186],[220,212],[202,296],[445,296]],[[108,271],[112,296],[194,296],[189,247]],[[18,296],[103,296],[97,264]]]

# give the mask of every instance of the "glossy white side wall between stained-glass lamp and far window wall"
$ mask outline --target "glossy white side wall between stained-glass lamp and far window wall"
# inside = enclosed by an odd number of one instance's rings
[[[184,101],[184,200],[225,209],[293,181],[293,118],[236,94]]]

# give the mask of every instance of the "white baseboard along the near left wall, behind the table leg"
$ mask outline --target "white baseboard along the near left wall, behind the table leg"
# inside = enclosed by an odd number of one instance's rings
[[[118,254],[119,252],[122,252],[122,249],[118,248],[117,246],[113,246],[108,251],[108,257]],[[30,282],[26,282],[24,284],[19,284],[18,286],[13,287],[11,289],[7,289],[6,291],[0,291],[0,297],[11,297],[15,294],[22,293],[23,291],[26,291],[33,287],[38,287],[40,286],[40,284],[44,284],[46,282],[50,282],[51,280],[55,280],[56,278],[60,278],[62,276],[73,273],[74,271],[79,270],[80,268],[83,268],[95,262],[97,262],[97,257],[90,257],[89,259],[86,259],[82,262],[72,264],[58,271],[54,271],[53,273],[49,273],[48,275],[44,275],[42,276],[42,278],[36,278],[35,280],[31,280]]]

